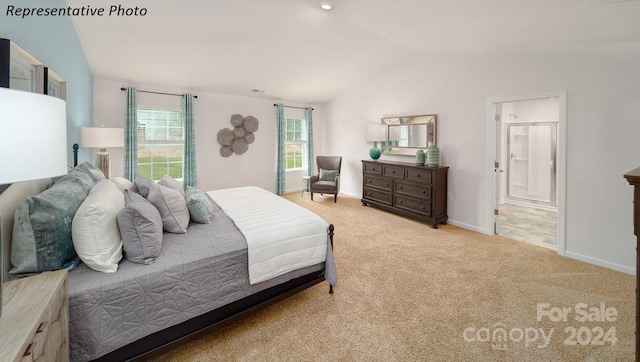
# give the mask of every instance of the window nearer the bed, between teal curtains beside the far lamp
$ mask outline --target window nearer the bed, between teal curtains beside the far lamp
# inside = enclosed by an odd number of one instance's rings
[[[138,173],[182,179],[184,129],[178,110],[138,109]]]

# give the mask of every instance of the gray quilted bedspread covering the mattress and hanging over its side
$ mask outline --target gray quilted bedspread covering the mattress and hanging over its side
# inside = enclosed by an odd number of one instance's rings
[[[320,271],[296,270],[251,286],[247,244],[216,206],[211,224],[165,233],[154,264],[123,260],[106,274],[81,264],[69,273],[69,344],[72,361],[96,359],[169,326],[225,304]]]

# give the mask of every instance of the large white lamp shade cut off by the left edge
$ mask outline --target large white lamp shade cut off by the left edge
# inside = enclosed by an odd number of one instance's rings
[[[65,101],[44,94],[0,88],[0,184],[65,173]]]

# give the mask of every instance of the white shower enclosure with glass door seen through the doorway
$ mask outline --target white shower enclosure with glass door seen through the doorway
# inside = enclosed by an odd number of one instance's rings
[[[507,124],[507,199],[556,204],[556,122]]]

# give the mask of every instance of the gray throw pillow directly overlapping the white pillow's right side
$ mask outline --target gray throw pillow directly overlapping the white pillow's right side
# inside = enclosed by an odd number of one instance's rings
[[[118,213],[122,249],[127,260],[140,264],[156,261],[162,250],[162,217],[141,195],[125,190],[125,207]]]

